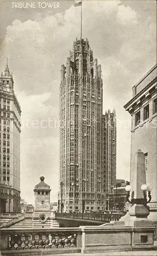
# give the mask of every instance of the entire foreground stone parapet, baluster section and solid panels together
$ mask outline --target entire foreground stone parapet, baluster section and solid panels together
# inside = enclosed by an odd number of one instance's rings
[[[153,226],[1,229],[1,255],[31,256],[108,251],[156,250]]]

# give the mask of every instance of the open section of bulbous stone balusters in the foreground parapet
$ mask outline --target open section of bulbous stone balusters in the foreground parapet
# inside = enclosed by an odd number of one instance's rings
[[[2,249],[32,250],[74,248],[78,246],[78,228],[53,228],[46,230],[1,229]]]

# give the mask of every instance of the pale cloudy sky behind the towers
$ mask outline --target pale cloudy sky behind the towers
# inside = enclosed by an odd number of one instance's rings
[[[0,71],[8,56],[22,111],[21,197],[34,203],[43,175],[57,201],[60,66],[80,37],[80,7],[62,0],[42,9],[34,0],[36,8],[18,9],[12,2],[1,1]],[[117,178],[129,180],[131,118],[123,105],[156,61],[156,1],[83,1],[82,14],[82,37],[102,65],[103,112],[116,109]]]

